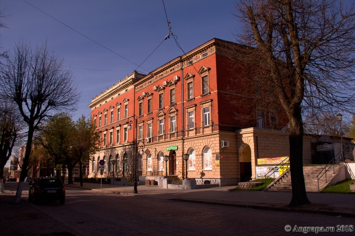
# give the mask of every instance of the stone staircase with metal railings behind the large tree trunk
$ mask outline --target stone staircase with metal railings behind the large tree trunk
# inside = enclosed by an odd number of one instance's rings
[[[328,166],[329,167],[329,166]],[[327,167],[327,168],[328,168]],[[317,192],[318,191],[318,181],[317,175],[321,172],[325,166],[303,166],[304,183],[306,185],[307,192]],[[322,173],[324,173],[323,171]],[[333,167],[330,167],[327,171],[327,182],[326,176],[323,175],[319,179],[319,190],[322,190],[327,183],[329,183],[334,176],[339,172],[339,166],[335,166],[335,173],[333,173]],[[320,175],[319,175],[320,176]],[[267,187],[268,191],[292,191],[291,186],[291,172],[288,170],[285,174],[281,175],[276,181]]]

